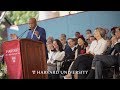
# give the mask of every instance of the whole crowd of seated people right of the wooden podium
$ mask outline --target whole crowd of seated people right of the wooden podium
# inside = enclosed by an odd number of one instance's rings
[[[51,42],[50,46],[48,45],[51,47],[50,52],[54,53],[53,56],[57,57],[57,59],[54,58],[53,61],[60,61],[55,62],[54,70],[68,72],[88,71],[85,74],[67,73],[63,74],[63,77],[58,75],[56,79],[102,79],[104,74],[103,70],[106,67],[109,68],[113,65],[119,66],[120,27],[113,27],[110,31],[110,36],[108,36],[108,32],[108,29],[98,27],[95,28],[94,33],[92,33],[90,29],[86,30],[86,37],[81,35],[80,32],[75,33],[75,38],[69,37],[68,39],[65,34],[61,34],[59,42],[61,42],[60,47],[63,50],[59,51],[57,48],[59,53],[62,53],[60,54],[61,56],[55,55],[55,43]],[[57,46],[59,47],[59,45]],[[111,51],[112,49],[114,52]],[[52,56],[49,55],[47,62],[48,69],[51,57]],[[59,63],[59,65],[57,65],[57,63]]]

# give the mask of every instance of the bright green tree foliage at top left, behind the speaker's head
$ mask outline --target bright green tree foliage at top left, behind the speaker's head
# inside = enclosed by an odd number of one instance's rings
[[[9,11],[6,18],[11,24],[20,25],[28,23],[28,19],[31,17],[38,19],[38,16],[38,11]]]

